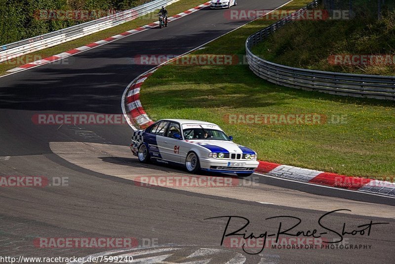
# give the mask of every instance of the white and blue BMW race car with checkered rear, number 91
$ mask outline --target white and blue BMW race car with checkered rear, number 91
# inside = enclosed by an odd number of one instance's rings
[[[258,167],[255,151],[238,145],[213,123],[163,119],[133,133],[130,149],[142,163],[178,164],[200,170],[249,176]]]

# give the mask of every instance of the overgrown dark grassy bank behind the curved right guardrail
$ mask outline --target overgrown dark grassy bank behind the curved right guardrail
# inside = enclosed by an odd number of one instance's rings
[[[332,65],[328,57],[334,54],[394,56],[395,11],[384,13],[381,20],[357,15],[343,21],[296,21],[252,50],[262,58],[291,67],[394,76],[395,62],[390,65]]]

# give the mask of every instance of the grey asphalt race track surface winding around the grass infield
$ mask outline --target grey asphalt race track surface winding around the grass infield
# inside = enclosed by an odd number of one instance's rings
[[[284,2],[239,0],[237,9],[271,9]],[[393,262],[394,199],[263,176],[251,187],[144,188],[134,183],[136,176],[185,171],[139,164],[126,147],[132,132],[127,125],[32,123],[38,113],[120,114],[124,88],[151,68],[133,65],[131,58],[181,54],[245,23],[226,20],[223,12],[203,9],[166,29],[151,29],[72,56],[68,64],[47,64],[0,78],[0,157],[9,156],[0,158],[0,175],[69,181],[68,186],[0,189],[0,256],[84,257],[109,250],[36,248],[36,237],[134,237],[139,245],[167,245],[161,253],[141,250],[141,263]],[[326,217],[326,226],[338,232],[344,223],[347,230],[370,220],[389,224],[373,225],[369,236],[345,235],[346,244],[371,245],[370,249],[265,249],[249,255],[220,246],[225,219],[204,220],[245,217],[251,221],[248,231],[258,235],[278,228],[279,220],[266,218],[293,216],[302,219],[294,230],[322,231],[319,217],[337,209],[352,210]],[[294,222],[282,219],[283,225]],[[330,233],[327,238],[338,236]]]

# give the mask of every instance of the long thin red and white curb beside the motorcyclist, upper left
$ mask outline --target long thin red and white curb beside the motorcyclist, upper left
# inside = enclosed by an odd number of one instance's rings
[[[203,4],[195,6],[194,8],[188,9],[188,10],[182,12],[182,13],[179,13],[177,15],[173,15],[171,17],[168,17],[167,20],[168,20],[168,22],[177,20],[177,19],[179,19],[179,18],[181,18],[183,16],[192,14],[192,13],[194,13],[194,12],[204,8],[204,7],[207,7],[208,5],[210,5],[210,2],[205,2]],[[61,60],[63,58],[66,58],[66,57],[69,57],[69,56],[73,56],[73,55],[78,54],[80,52],[83,52],[83,51],[86,51],[86,50],[89,50],[89,49],[92,49],[92,48],[95,48],[95,47],[98,47],[98,46],[101,46],[101,45],[104,45],[104,44],[108,44],[108,43],[111,43],[111,42],[123,39],[125,37],[130,36],[130,35],[134,35],[134,34],[146,31],[146,30],[151,29],[151,28],[158,27],[158,25],[159,25],[159,21],[153,22],[153,23],[150,23],[148,25],[141,26],[141,27],[138,27],[136,29],[132,29],[132,30],[120,33],[118,35],[109,37],[109,38],[101,40],[101,41],[97,41],[97,42],[94,42],[94,43],[91,43],[91,44],[87,44],[87,45],[84,45],[84,46],[81,46],[81,47],[73,48],[73,49],[71,49],[69,51],[62,52],[62,53],[50,56],[48,58],[40,59],[40,60],[37,60],[37,61],[31,62],[31,63],[25,64],[25,65],[22,65],[22,66],[19,66],[17,68],[8,70],[7,72],[15,73],[15,72],[31,69],[31,68],[34,68],[34,67],[38,67],[38,66],[41,66],[41,65],[44,65],[44,64],[48,64],[48,63],[51,63],[51,62],[54,62],[54,61],[57,61],[57,60]]]

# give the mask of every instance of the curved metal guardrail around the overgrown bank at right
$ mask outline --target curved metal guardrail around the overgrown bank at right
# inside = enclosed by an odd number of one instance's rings
[[[293,13],[300,17],[306,9],[315,8],[318,0]],[[264,60],[251,52],[251,47],[262,42],[288,22],[291,16],[277,21],[248,37],[245,43],[249,68],[259,77],[271,83],[289,88],[320,91],[329,94],[353,97],[395,100],[395,76],[377,76],[324,72],[294,68]]]

